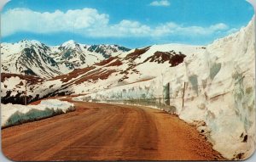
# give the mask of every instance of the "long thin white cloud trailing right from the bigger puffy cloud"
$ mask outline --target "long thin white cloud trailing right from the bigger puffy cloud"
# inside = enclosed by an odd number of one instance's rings
[[[90,30],[87,34],[95,37],[164,37],[164,36],[212,36],[216,33],[228,33],[229,26],[223,23],[202,26],[183,26],[174,22],[156,25],[143,25],[137,21],[122,20],[117,25]]]

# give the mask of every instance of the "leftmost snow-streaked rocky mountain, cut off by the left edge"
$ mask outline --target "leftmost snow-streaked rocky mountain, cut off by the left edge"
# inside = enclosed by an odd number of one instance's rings
[[[49,47],[37,41],[1,43],[1,72],[49,77],[61,75],[62,68],[49,57]]]

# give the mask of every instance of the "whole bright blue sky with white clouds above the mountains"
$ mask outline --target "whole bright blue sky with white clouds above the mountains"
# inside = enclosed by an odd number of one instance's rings
[[[2,42],[144,47],[205,45],[252,19],[244,0],[12,0],[2,11]]]

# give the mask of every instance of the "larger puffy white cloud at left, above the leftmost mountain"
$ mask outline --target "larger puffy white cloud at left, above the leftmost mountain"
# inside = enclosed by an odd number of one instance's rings
[[[99,14],[93,8],[68,10],[66,13],[60,10],[39,13],[27,8],[15,8],[3,13],[1,31],[3,36],[9,36],[17,31],[52,33],[104,25],[108,25],[108,14]]]

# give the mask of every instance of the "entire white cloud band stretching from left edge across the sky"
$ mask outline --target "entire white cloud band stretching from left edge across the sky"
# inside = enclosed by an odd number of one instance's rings
[[[214,36],[229,34],[228,25],[218,23],[209,26],[180,25],[166,22],[159,25],[145,25],[134,20],[121,20],[109,24],[108,14],[99,14],[95,8],[84,8],[62,12],[40,13],[26,8],[10,9],[2,16],[2,35],[10,36],[19,31],[33,33],[75,32],[90,37],[165,37],[165,36]]]

